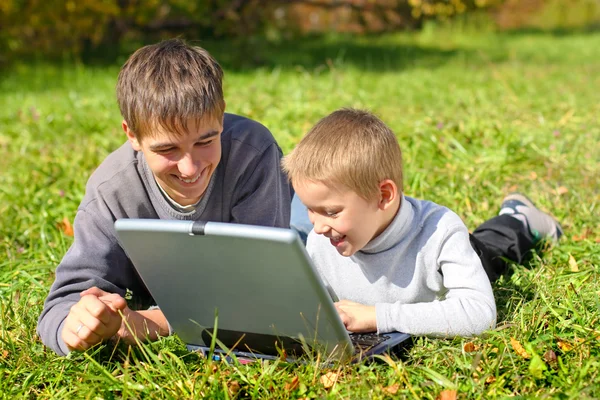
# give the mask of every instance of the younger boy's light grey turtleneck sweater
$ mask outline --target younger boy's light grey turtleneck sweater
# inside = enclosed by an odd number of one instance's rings
[[[471,336],[496,323],[469,232],[445,207],[404,196],[392,223],[353,256],[314,231],[307,250],[338,298],[375,306],[380,333]]]

